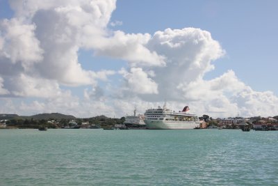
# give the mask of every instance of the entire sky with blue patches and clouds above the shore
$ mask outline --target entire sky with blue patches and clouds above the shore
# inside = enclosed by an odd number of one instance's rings
[[[0,113],[277,116],[277,6],[0,0]]]

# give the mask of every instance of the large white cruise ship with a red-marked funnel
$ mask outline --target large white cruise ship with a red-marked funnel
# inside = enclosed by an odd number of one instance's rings
[[[175,112],[166,108],[147,109],[145,112],[145,124],[147,129],[194,129],[199,128],[199,118],[196,114],[186,113],[189,107]]]

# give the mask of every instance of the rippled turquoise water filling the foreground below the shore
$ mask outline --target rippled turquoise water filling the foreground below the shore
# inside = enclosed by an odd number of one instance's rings
[[[278,185],[278,131],[0,130],[0,185]]]

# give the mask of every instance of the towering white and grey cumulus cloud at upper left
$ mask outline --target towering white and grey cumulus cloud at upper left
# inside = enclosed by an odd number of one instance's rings
[[[10,5],[15,17],[0,22],[0,75],[7,82],[6,93],[46,98],[57,89],[47,82],[58,87],[96,86],[97,79],[114,74],[83,69],[78,54],[88,28],[88,38],[106,35],[115,1],[28,0]]]

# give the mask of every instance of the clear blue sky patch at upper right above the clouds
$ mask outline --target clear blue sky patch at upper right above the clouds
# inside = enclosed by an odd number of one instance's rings
[[[209,31],[226,50],[206,78],[233,69],[256,91],[274,91],[278,68],[277,1],[117,1],[111,20],[126,33],[167,28]]]

